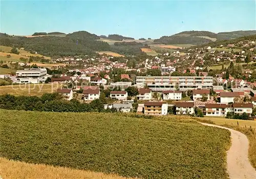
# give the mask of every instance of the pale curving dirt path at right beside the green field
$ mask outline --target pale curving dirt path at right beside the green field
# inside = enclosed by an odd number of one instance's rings
[[[201,123],[201,122],[200,122]],[[219,127],[231,132],[231,147],[227,151],[227,173],[232,178],[256,178],[256,171],[248,159],[249,142],[247,137],[227,127],[201,123],[212,127]]]

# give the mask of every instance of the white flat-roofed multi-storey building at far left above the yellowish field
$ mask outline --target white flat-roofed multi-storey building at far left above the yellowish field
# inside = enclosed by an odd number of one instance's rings
[[[25,68],[16,71],[16,82],[19,84],[45,83],[51,75],[47,74],[46,68]]]

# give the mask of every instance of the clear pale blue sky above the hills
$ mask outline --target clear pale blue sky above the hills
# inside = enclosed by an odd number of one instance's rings
[[[159,38],[181,31],[255,30],[255,0],[240,1],[11,1],[0,0],[0,31],[88,31]]]

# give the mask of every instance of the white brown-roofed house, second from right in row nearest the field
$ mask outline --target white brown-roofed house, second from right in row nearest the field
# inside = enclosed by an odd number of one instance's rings
[[[206,116],[226,116],[226,104],[205,104]]]

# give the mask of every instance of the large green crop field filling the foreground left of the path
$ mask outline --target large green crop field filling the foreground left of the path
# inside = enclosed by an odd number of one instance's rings
[[[0,110],[0,157],[140,178],[227,178],[227,130],[156,119]]]

